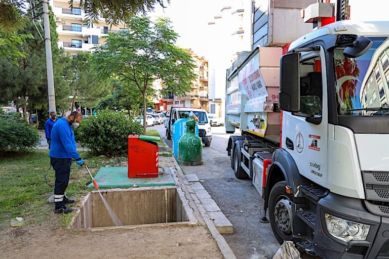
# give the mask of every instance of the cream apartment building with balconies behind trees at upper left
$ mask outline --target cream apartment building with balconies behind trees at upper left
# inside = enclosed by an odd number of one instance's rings
[[[80,0],[73,1],[72,9],[68,0],[50,0],[50,5],[57,23],[58,47],[71,55],[80,51],[91,52],[96,45],[102,45],[107,32],[127,30],[125,24],[107,25],[103,15],[97,22],[90,21],[80,8]]]

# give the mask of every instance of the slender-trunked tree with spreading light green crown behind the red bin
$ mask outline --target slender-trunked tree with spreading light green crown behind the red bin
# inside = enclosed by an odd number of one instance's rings
[[[195,65],[187,50],[174,45],[178,35],[169,19],[151,22],[148,17],[134,17],[127,24],[129,31],[109,33],[106,45],[93,54],[94,64],[100,73],[115,75],[125,85],[136,86],[146,117],[146,97],[152,82],[161,79],[164,93],[185,94],[195,78]],[[146,133],[146,120],[143,132]]]

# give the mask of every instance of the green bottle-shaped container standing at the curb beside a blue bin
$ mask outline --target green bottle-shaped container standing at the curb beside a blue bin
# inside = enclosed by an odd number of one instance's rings
[[[177,162],[183,165],[203,164],[203,143],[196,135],[196,120],[186,121],[186,133],[178,142]]]

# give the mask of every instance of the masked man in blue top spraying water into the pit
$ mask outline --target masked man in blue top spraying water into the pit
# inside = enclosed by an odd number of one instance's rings
[[[65,195],[69,184],[71,160],[83,166],[84,161],[77,153],[74,133],[72,128],[79,126],[83,115],[73,111],[70,115],[62,117],[56,121],[51,131],[51,148],[49,152],[50,164],[55,170],[54,186],[54,213],[70,213],[72,208],[67,208],[65,203],[73,203],[74,199],[69,199]]]

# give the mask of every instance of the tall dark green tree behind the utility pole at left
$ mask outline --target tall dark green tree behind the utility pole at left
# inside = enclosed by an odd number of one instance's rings
[[[28,19],[28,16],[26,18]],[[26,117],[27,103],[37,109],[48,105],[45,42],[38,35],[34,24],[27,19],[25,27],[17,32],[17,35],[32,35],[25,39],[24,44],[17,47],[18,51],[25,55],[12,61],[4,57],[0,58],[0,74],[2,75],[0,103],[13,102],[17,108],[23,108]],[[58,108],[61,108],[70,94],[63,77],[64,69],[70,58],[58,49],[58,34],[53,14],[50,15],[50,32],[56,100]]]

